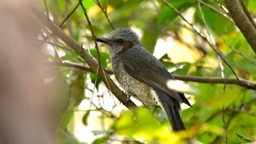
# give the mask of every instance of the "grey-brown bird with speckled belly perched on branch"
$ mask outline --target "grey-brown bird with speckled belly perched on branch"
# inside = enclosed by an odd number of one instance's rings
[[[143,48],[138,34],[132,29],[123,28],[96,40],[107,45],[113,73],[127,94],[148,107],[161,107],[174,132],[185,130],[180,102],[191,105],[184,94],[167,87],[167,80],[174,80],[173,75],[161,61]]]

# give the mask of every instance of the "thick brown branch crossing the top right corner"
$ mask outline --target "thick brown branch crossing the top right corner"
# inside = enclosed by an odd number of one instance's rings
[[[225,0],[227,10],[244,35],[246,41],[256,53],[256,24],[243,0]]]

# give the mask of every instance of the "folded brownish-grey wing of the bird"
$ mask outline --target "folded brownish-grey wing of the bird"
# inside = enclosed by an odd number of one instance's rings
[[[167,72],[165,67],[159,65],[158,61],[147,61],[145,58],[124,58],[122,63],[129,75],[132,75],[136,80],[190,105],[184,95],[180,95],[167,87],[167,80],[174,79],[174,77]]]

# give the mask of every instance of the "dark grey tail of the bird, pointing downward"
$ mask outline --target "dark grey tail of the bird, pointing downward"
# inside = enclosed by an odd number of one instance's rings
[[[173,99],[174,105],[170,105],[168,102],[162,102],[162,108],[165,110],[165,113],[167,114],[170,124],[173,128],[173,131],[178,132],[180,130],[186,129],[184,126],[184,123],[181,119],[180,111],[180,105],[178,100]]]

